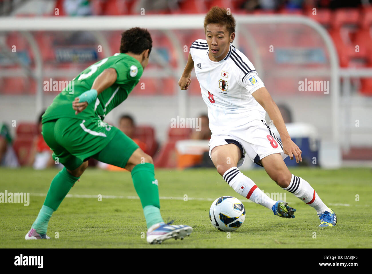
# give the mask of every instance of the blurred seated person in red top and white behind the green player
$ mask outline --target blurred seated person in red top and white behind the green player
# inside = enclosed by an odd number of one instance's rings
[[[30,151],[30,157],[28,165],[34,169],[46,169],[54,166],[54,159],[52,158],[52,151],[44,141],[44,137],[41,134],[41,117],[44,114],[43,111],[38,120],[38,134],[33,139],[33,144]]]

